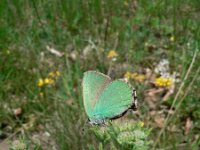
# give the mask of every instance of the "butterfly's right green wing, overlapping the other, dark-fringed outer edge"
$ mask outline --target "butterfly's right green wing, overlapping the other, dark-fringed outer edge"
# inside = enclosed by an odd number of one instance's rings
[[[113,118],[131,107],[132,89],[121,81],[111,82],[102,92],[94,109],[93,119]]]

